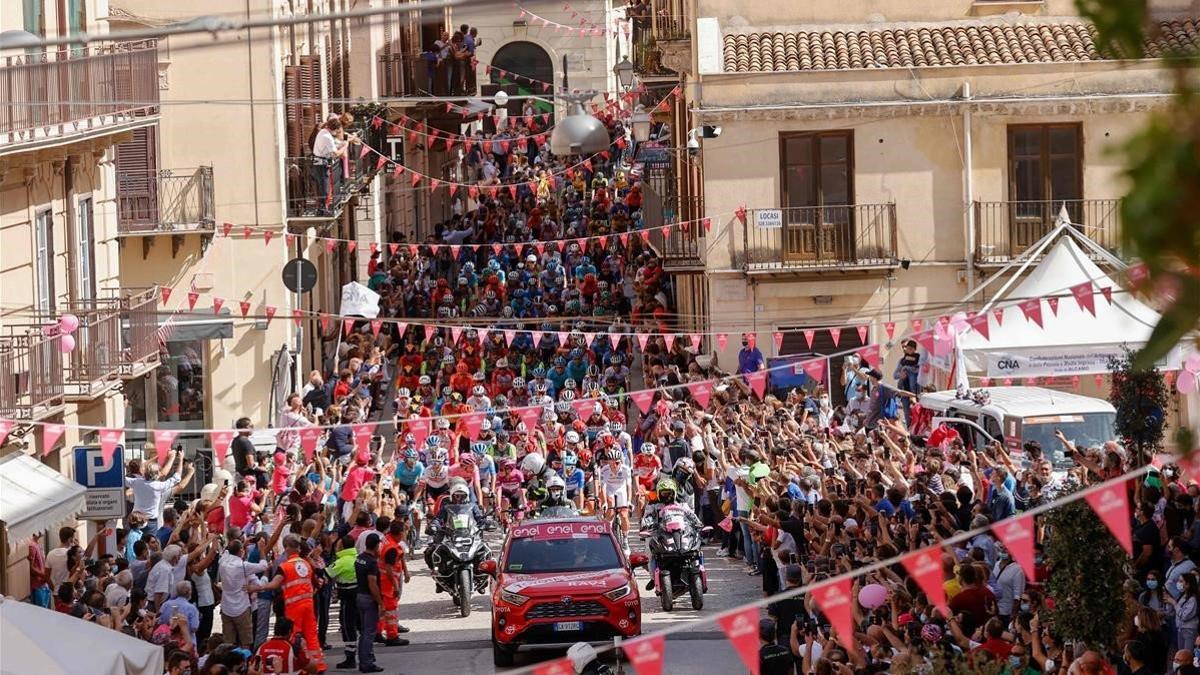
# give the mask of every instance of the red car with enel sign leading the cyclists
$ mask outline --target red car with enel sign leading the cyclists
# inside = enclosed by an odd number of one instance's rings
[[[607,522],[565,518],[523,522],[509,531],[498,561],[480,569],[492,584],[492,655],[512,665],[518,649],[564,649],[642,632],[634,568]]]

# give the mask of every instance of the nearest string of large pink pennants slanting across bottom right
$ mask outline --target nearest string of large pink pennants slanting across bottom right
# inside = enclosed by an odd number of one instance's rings
[[[1193,480],[1200,480],[1200,450],[1187,458],[1172,455],[1159,455],[1152,466],[1162,466],[1164,461],[1178,464]],[[1096,513],[1097,518],[1104,522],[1114,539],[1126,551],[1133,555],[1133,530],[1130,518],[1130,503],[1128,483],[1145,476],[1151,471],[1151,466],[1142,466],[1126,472],[1122,476],[1097,483],[1051,500],[1042,506],[1031,508],[1019,515],[992,522],[983,527],[973,527],[965,532],[959,532],[946,537],[934,544],[913,550],[900,552],[886,560],[870,562],[857,567],[850,572],[836,574],[828,579],[804,584],[796,589],[788,589],[768,598],[761,598],[742,604],[715,615],[703,615],[695,621],[676,623],[653,633],[638,635],[629,640],[622,640],[619,649],[636,675],[661,675],[666,662],[666,638],[682,631],[694,631],[696,623],[715,623],[721,633],[730,641],[739,661],[745,665],[751,675],[758,674],[758,619],[762,608],[788,598],[811,597],[817,610],[829,622],[833,634],[845,649],[853,652],[858,649],[854,626],[854,581],[868,574],[881,569],[901,566],[905,572],[917,583],[929,603],[942,616],[952,616],[949,603],[946,596],[944,573],[942,568],[942,555],[948,546],[990,532],[1004,545],[1013,561],[1016,562],[1026,578],[1033,579],[1037,575],[1036,556],[1036,518],[1049,513],[1066,504],[1085,501]],[[605,645],[598,647],[598,652],[616,650],[616,646]],[[553,661],[527,665],[514,674],[530,673],[532,675],[574,675],[575,670],[569,657],[556,658]]]

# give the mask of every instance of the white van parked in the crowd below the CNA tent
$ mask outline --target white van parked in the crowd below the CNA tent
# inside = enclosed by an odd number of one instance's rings
[[[995,438],[1002,441],[1004,449],[1015,459],[1024,456],[1025,443],[1037,441],[1056,468],[1074,466],[1074,461],[1063,454],[1062,443],[1055,438],[1056,429],[1061,429],[1067,440],[1079,447],[1098,446],[1116,438],[1117,412],[1112,404],[1103,399],[1043,387],[989,387],[986,392],[990,400],[982,406],[970,399],[956,399],[954,392],[922,394],[920,405],[932,411],[935,418],[972,423],[958,429],[972,447],[978,448]],[[970,430],[962,426],[970,426]],[[968,431],[973,437],[968,437]]]

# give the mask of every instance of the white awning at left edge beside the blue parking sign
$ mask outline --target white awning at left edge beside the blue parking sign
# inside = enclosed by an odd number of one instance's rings
[[[0,521],[8,532],[8,548],[74,518],[83,510],[85,491],[31,455],[0,458]]]

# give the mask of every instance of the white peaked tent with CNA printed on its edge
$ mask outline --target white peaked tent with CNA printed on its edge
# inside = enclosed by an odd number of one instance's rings
[[[959,336],[956,360],[968,372],[1014,378],[1106,374],[1111,371],[1109,357],[1121,354],[1122,346],[1136,350],[1146,344],[1159,313],[1126,293],[1092,262],[1076,239],[1092,255],[1112,261],[1106,251],[1061,219],[1060,226],[1034,246],[1034,251],[1042,251],[1052,243],[1045,257],[1034,263],[1038,253],[1031,251],[1021,269],[982,310],[980,313],[988,316],[989,339],[976,330]],[[1019,279],[1022,270],[1027,270],[1027,275]],[[1091,281],[1097,289],[1094,316],[1068,291],[1085,281]],[[1099,292],[1105,287],[1112,289],[1111,304]],[[1026,319],[1015,305],[1030,298],[1043,299],[1042,327]],[[1057,313],[1050,309],[1048,298],[1057,299]],[[1002,323],[992,315],[994,304],[1004,306]],[[1172,350],[1164,362],[1164,365],[1178,368],[1180,348]]]

